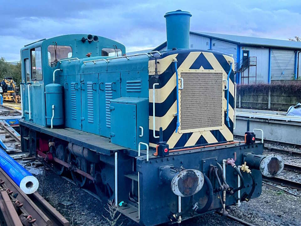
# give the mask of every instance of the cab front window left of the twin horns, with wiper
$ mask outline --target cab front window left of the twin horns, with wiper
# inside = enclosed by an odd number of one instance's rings
[[[50,67],[55,67],[57,62],[64,58],[72,57],[71,46],[48,46],[48,65]]]

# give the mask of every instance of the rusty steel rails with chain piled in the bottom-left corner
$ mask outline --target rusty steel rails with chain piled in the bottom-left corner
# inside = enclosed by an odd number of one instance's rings
[[[0,209],[8,226],[68,226],[69,222],[38,192],[27,196],[0,168]]]

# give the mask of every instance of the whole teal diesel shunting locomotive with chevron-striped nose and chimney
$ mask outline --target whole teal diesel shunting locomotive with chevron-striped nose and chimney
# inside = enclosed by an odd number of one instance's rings
[[[233,141],[234,60],[188,49],[190,17],[165,14],[164,52],[125,55],[93,35],[22,48],[22,150],[143,225],[258,197],[283,161],[251,132]]]

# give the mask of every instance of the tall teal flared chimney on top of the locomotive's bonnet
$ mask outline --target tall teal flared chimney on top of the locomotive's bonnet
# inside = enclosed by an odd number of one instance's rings
[[[177,10],[168,12],[166,18],[167,50],[189,49],[189,30],[191,13]]]

